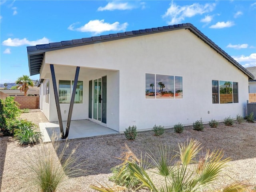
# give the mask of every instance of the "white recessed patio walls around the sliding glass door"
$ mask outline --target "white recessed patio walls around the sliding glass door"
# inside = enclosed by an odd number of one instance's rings
[[[76,67],[74,66],[57,66],[54,65],[56,84],[58,88],[59,80],[74,80]],[[95,70],[88,68],[80,68],[78,80],[83,81],[83,103],[74,104],[71,120],[88,119],[88,100],[89,100],[89,81],[102,76],[107,76],[107,127],[111,127],[114,130],[119,130],[119,72],[110,70]],[[50,78],[50,73],[46,74],[47,78]],[[46,82],[44,83],[46,84]],[[45,87],[45,85],[44,85]],[[50,105],[44,101],[43,112],[50,122],[58,121],[58,114],[55,103],[54,90],[52,80],[50,80]],[[45,98],[44,98],[45,100]],[[62,121],[68,119],[68,111],[70,104],[60,104],[60,111],[62,115]],[[66,111],[66,113],[65,113]]]

